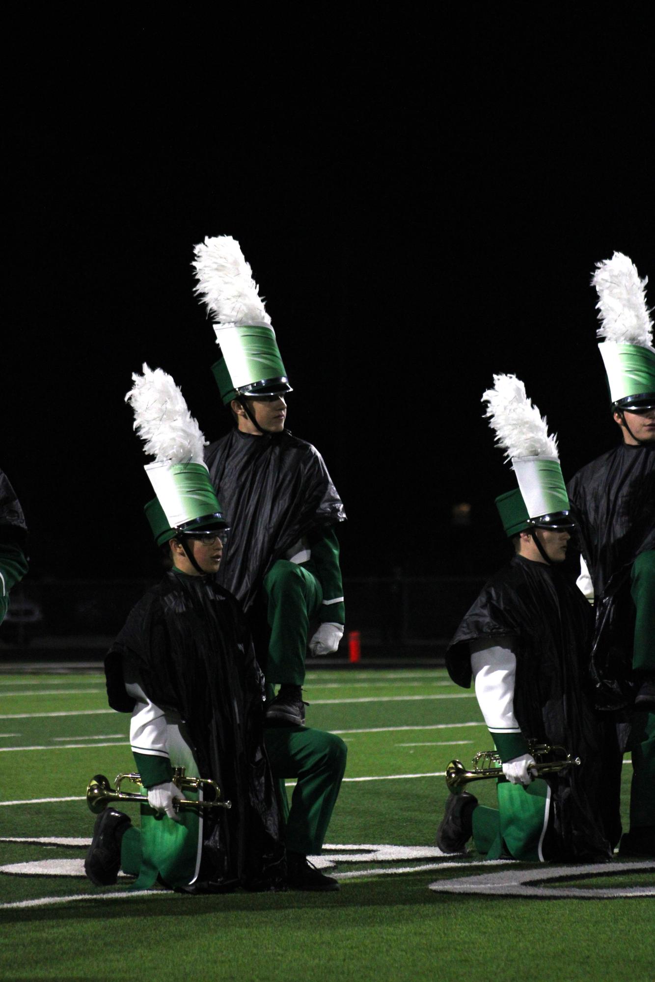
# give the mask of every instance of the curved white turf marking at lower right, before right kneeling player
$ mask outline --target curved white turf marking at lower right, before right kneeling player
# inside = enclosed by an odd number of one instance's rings
[[[458,877],[454,880],[436,880],[428,887],[443,894],[502,895],[503,897],[575,898],[577,900],[609,900],[618,897],[655,897],[655,884],[649,887],[609,887],[594,890],[592,887],[551,887],[549,881],[563,877],[593,877],[625,875],[628,871],[654,870],[652,859],[628,862],[609,870],[597,863],[584,866],[549,866],[546,869],[509,869],[482,876]],[[535,884],[543,883],[543,886]]]

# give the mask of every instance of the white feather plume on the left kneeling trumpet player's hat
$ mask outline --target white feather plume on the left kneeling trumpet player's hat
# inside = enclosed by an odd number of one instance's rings
[[[125,397],[135,412],[135,429],[143,450],[156,463],[202,464],[202,448],[208,441],[171,375],[161,368],[143,365],[143,374],[132,376],[135,383]]]

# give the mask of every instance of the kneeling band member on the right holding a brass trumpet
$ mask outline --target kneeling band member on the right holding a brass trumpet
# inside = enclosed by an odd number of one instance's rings
[[[557,569],[573,527],[557,443],[515,376],[494,376],[483,399],[519,482],[496,499],[515,556],[465,615],[447,665],[458,684],[474,679],[503,777],[498,810],[467,791],[449,796],[437,846],[460,851],[472,835],[490,859],[602,861],[618,834],[599,805],[605,736],[582,693],[589,606]],[[534,742],[562,745],[581,764],[535,778]]]

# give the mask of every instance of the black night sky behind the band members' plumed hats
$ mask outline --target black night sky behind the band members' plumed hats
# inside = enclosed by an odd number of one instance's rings
[[[589,280],[615,249],[655,277],[645,8],[448,6],[13,39],[0,466],[34,577],[152,572],[123,402],[143,361],[227,430],[192,295],[207,235],[240,241],[266,298],[289,427],[349,514],[345,573],[505,555],[494,372],[525,382],[565,476],[616,441]]]

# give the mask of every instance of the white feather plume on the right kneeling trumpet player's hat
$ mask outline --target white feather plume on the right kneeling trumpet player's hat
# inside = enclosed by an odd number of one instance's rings
[[[494,387],[482,396],[484,413],[496,432],[496,443],[505,459],[551,457],[559,460],[557,437],[550,436],[546,417],[525,395],[525,386],[516,375],[494,375]]]

